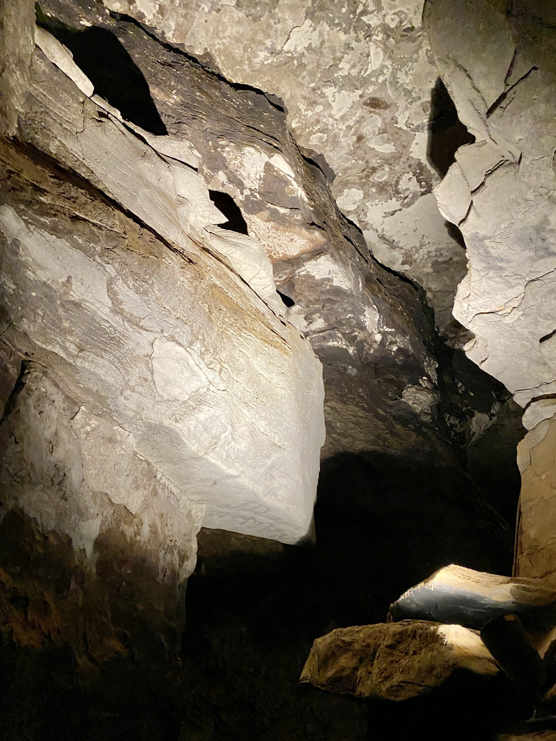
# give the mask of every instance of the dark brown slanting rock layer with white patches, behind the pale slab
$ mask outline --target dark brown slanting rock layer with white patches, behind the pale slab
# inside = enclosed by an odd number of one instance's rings
[[[151,128],[167,132],[153,137],[156,146],[183,142],[188,154],[182,159],[198,168],[216,202],[224,193],[240,207],[249,236],[274,264],[277,287],[294,302],[286,319],[323,365],[322,456],[408,449],[423,456],[445,447],[435,429],[436,362],[421,296],[369,254],[360,231],[338,210],[318,162],[293,141],[279,102],[226,82],[205,62],[100,4],[48,0],[41,7],[47,13],[41,22],[96,79],[96,93],[109,98],[114,93],[102,87],[98,53],[91,55],[105,36],[119,44],[122,64],[130,59],[148,83],[152,100],[141,102],[156,104]],[[109,102],[118,107],[116,98]],[[128,99],[119,106],[135,115]]]

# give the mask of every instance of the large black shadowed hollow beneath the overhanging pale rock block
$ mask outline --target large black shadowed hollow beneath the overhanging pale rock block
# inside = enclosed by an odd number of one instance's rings
[[[322,465],[314,547],[202,530],[186,594],[182,737],[491,741],[506,716],[504,682],[460,678],[408,704],[299,686],[316,637],[384,622],[394,599],[441,566],[511,570],[512,533],[475,496],[455,465],[342,454]]]

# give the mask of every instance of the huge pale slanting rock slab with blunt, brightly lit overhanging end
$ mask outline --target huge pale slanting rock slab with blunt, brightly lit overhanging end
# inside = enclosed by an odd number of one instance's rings
[[[145,240],[139,263],[118,244],[125,228],[100,197],[86,204],[89,223],[107,229],[78,237],[45,222],[40,207],[23,216],[12,194],[0,217],[4,342],[57,365],[75,398],[116,420],[184,511],[199,518],[206,506],[207,525],[297,541],[311,522],[324,439],[321,371],[268,308],[283,308],[268,259],[254,239],[213,226],[222,214],[199,175],[174,159],[187,162],[179,142],[131,132],[38,48],[30,80],[21,138],[89,176],[173,249],[159,242],[156,254]],[[167,141],[172,159],[161,156]],[[115,243],[99,249],[107,239]],[[56,306],[46,320],[44,306]]]

